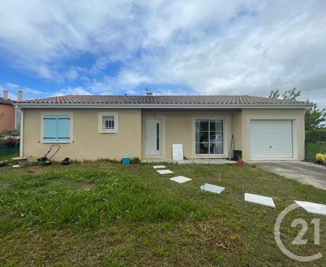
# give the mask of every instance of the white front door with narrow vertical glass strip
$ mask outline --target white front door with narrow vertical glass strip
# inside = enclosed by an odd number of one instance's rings
[[[146,119],[146,155],[161,155],[160,119]]]

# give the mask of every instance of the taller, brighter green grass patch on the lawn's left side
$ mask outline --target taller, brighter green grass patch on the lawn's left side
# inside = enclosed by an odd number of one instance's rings
[[[66,186],[65,180],[86,180],[95,183],[95,188],[76,191]],[[38,192],[28,191],[39,186],[44,187]],[[177,221],[187,217],[192,221],[207,215],[206,210],[197,209],[187,200],[178,202],[150,194],[148,186],[114,171],[29,174],[15,179],[12,189],[0,192],[2,216],[22,228],[40,225],[82,230],[110,223]],[[12,227],[3,232],[5,229]]]

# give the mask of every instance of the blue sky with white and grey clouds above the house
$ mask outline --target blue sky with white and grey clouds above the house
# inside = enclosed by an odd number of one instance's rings
[[[0,5],[0,90],[249,94],[326,106],[326,1],[14,1]]]

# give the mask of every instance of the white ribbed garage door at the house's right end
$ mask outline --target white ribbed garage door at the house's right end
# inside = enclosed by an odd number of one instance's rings
[[[292,157],[292,121],[251,120],[251,158]]]

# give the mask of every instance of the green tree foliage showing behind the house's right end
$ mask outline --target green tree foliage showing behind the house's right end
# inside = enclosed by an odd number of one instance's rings
[[[294,87],[292,90],[285,91],[282,94],[283,99],[287,100],[296,100],[297,97],[301,95],[301,91],[296,91]],[[269,98],[279,98],[279,90],[270,91]],[[307,103],[310,103],[310,100],[306,100]],[[326,109],[317,109],[317,104],[314,103],[312,108],[305,110],[305,129],[306,130],[315,130],[320,127],[323,127],[326,121]]]

